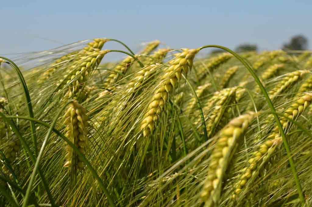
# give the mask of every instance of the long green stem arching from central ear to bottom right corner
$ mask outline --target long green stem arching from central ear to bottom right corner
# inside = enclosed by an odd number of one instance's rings
[[[279,128],[280,135],[281,135],[281,137],[283,139],[283,144],[284,144],[285,150],[287,152],[288,160],[289,160],[289,163],[290,163],[290,168],[291,168],[293,176],[295,178],[295,183],[297,185],[298,194],[299,194],[301,203],[302,203],[302,205],[305,205],[305,197],[304,197],[303,192],[302,192],[302,187],[301,187],[301,184],[300,184],[299,176],[298,176],[298,173],[297,173],[297,170],[296,170],[296,166],[295,166],[294,160],[293,160],[293,158],[291,156],[290,147],[289,147],[289,144],[287,142],[286,135],[285,135],[285,132],[283,130],[283,126],[280,123],[280,120],[278,118],[278,115],[276,114],[276,110],[274,108],[274,105],[273,105],[273,103],[272,103],[268,93],[266,92],[266,89],[263,87],[260,79],[258,78],[256,73],[254,72],[252,67],[240,55],[238,55],[236,52],[230,50],[227,47],[223,47],[223,46],[219,46],[219,45],[206,45],[206,46],[200,47],[199,49],[202,50],[202,49],[208,48],[208,47],[220,48],[220,49],[225,50],[225,51],[231,53],[232,55],[234,55],[247,68],[247,70],[251,73],[252,77],[255,79],[256,83],[259,85],[259,87],[261,89],[261,92],[264,95],[264,97],[266,98],[266,101],[267,101],[267,103],[268,103],[268,105],[269,105],[269,107],[271,109],[271,112],[274,115],[275,122],[276,122],[276,124],[277,124],[277,126]]]

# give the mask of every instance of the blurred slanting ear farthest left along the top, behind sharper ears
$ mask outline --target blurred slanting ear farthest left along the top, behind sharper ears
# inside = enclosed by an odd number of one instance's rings
[[[68,53],[62,57],[60,57],[59,59],[55,60],[54,63],[51,64],[50,68],[48,70],[46,70],[37,80],[37,83],[43,83],[45,80],[49,79],[55,71],[57,71],[58,69],[60,69],[63,65],[71,62],[72,60],[74,60],[75,55],[78,54],[79,51],[74,51],[71,53]]]

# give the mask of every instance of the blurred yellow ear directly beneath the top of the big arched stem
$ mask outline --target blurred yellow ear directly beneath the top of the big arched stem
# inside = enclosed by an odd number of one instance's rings
[[[217,57],[212,57],[207,60],[207,62],[203,65],[202,70],[198,71],[201,74],[200,79],[203,79],[207,76],[207,71],[212,72],[217,69],[220,65],[226,63],[233,57],[231,53],[224,52],[218,55]]]

